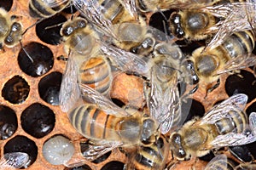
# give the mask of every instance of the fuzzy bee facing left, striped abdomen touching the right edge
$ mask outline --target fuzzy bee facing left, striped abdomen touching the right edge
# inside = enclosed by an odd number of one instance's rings
[[[219,75],[255,65],[256,59],[252,54],[254,40],[252,31],[241,31],[212,50],[205,50],[205,47],[195,49],[188,59],[195,84],[205,87],[208,94],[218,88]]]

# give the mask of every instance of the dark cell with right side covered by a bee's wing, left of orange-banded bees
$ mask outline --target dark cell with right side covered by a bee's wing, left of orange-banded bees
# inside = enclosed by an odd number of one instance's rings
[[[38,92],[42,99],[50,105],[59,105],[62,74],[51,72],[38,83]]]

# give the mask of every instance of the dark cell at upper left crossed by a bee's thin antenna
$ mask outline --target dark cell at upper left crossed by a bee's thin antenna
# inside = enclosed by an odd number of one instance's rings
[[[61,43],[61,26],[67,19],[61,14],[42,20],[36,26],[36,33],[40,40],[51,45]]]

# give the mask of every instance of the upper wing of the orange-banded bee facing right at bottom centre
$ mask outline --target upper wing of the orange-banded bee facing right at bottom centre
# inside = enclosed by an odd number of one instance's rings
[[[79,84],[83,99],[96,104],[102,111],[105,111],[109,115],[114,116],[130,116],[125,110],[119,108],[119,106],[114,105],[111,100],[97,92],[96,90],[86,86],[84,84]]]

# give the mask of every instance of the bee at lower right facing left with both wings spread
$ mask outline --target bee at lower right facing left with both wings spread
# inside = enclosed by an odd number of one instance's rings
[[[216,148],[252,143],[255,133],[243,111],[247,95],[236,94],[212,107],[201,119],[186,122],[171,135],[171,150],[178,160],[205,156]]]

